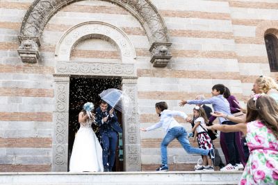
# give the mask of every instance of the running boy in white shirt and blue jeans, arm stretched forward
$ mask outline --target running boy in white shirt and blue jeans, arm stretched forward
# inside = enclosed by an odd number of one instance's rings
[[[177,139],[181,146],[183,146],[184,150],[189,154],[199,154],[199,155],[209,155],[211,159],[214,159],[214,150],[205,150],[202,148],[193,148],[190,146],[188,141],[187,132],[186,130],[174,119],[173,116],[180,116],[184,118],[186,121],[190,121],[190,118],[184,113],[179,111],[171,111],[168,110],[167,103],[165,102],[158,102],[156,103],[156,113],[161,116],[161,120],[152,125],[151,127],[141,128],[142,131],[150,131],[154,130],[158,127],[163,127],[165,132],[167,133],[161,142],[161,163],[162,165],[157,168],[157,171],[167,171],[168,164],[167,164],[167,146],[168,144]]]

